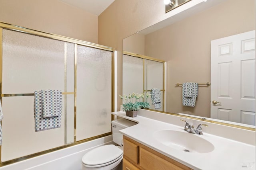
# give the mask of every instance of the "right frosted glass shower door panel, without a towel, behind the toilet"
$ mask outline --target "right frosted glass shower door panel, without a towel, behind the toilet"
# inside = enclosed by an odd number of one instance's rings
[[[112,52],[77,46],[77,141],[111,132]]]

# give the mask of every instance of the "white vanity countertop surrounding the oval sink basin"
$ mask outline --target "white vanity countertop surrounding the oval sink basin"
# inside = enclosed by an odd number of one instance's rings
[[[128,117],[123,111],[113,112],[112,114],[138,123],[132,127],[120,130],[123,135],[126,135],[127,137],[130,137],[131,139],[142,143],[143,145],[146,145],[147,147],[154,149],[194,170],[256,169],[255,145],[249,145],[239,141],[219,137],[217,135],[211,135],[209,133],[205,133],[203,130],[204,135],[197,136],[212,143],[212,145],[214,145],[214,150],[208,153],[184,152],[168,147],[154,138],[154,133],[160,130],[175,130],[187,133],[184,131],[184,126],[173,125],[140,115],[137,117]],[[172,115],[166,116],[171,117]],[[204,127],[202,128],[204,129]],[[240,131],[238,132],[241,133]],[[239,133],[236,134],[236,128],[234,128],[233,133],[234,135],[239,135]],[[188,138],[184,140],[190,140],[190,135],[195,134],[188,133]],[[193,141],[191,142],[193,143]],[[242,166],[253,166],[253,168]]]

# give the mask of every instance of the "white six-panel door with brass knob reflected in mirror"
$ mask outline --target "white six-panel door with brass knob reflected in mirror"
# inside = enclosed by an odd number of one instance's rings
[[[211,41],[211,118],[255,125],[255,31]]]

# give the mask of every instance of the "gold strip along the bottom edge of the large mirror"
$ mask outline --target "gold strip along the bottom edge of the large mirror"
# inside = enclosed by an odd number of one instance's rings
[[[200,118],[197,118],[197,117],[186,116],[186,115],[179,115],[177,113],[170,113],[170,112],[159,111],[159,110],[154,110],[154,109],[146,109],[146,110],[156,111],[156,112],[165,113],[165,114],[169,114],[169,115],[174,115],[174,116],[178,116],[178,117],[186,117],[186,118],[189,118],[189,119],[200,120],[200,121],[205,121],[205,122],[209,122],[209,123],[216,123],[216,124],[219,124],[219,125],[236,127],[236,128],[240,128],[240,129],[246,129],[246,130],[250,130],[250,131],[255,131],[255,128],[253,128],[253,127],[246,127],[246,126],[240,126],[240,125],[235,125],[235,124],[231,124],[231,123],[224,123],[224,122],[220,122],[220,121],[213,121],[213,120],[208,120],[207,118],[206,119],[200,119]]]

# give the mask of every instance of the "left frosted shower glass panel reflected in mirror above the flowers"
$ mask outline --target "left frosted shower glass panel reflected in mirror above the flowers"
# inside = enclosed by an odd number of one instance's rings
[[[143,92],[143,59],[123,55],[123,95]]]

